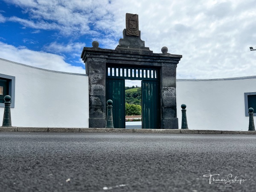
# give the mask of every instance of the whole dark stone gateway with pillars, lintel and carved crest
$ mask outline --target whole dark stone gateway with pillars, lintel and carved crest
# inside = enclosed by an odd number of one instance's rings
[[[139,33],[137,33],[139,32]],[[128,34],[128,35],[127,35]],[[126,29],[116,49],[101,49],[94,41],[93,47],[84,47],[81,58],[89,77],[89,128],[106,125],[106,70],[109,65],[118,67],[155,68],[160,71],[161,128],[177,129],[176,67],[182,55],[153,53],[140,38],[138,16],[126,14]],[[127,78],[129,79],[129,78]]]

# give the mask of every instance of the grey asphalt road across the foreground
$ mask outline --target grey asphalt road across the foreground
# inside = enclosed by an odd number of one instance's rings
[[[255,135],[0,133],[0,191],[250,192],[255,157]]]

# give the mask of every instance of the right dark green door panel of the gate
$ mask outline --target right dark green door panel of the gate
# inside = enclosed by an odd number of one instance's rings
[[[159,81],[141,81],[142,128],[160,128]]]

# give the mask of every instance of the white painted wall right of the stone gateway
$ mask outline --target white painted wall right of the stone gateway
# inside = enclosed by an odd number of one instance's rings
[[[250,78],[250,79],[248,79]],[[177,117],[186,104],[189,129],[248,131],[244,93],[256,92],[256,76],[212,80],[177,80]]]

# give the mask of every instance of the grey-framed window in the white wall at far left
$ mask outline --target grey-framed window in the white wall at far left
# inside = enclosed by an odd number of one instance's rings
[[[0,107],[4,108],[4,96],[12,97],[11,108],[14,108],[15,102],[15,77],[0,74]]]

